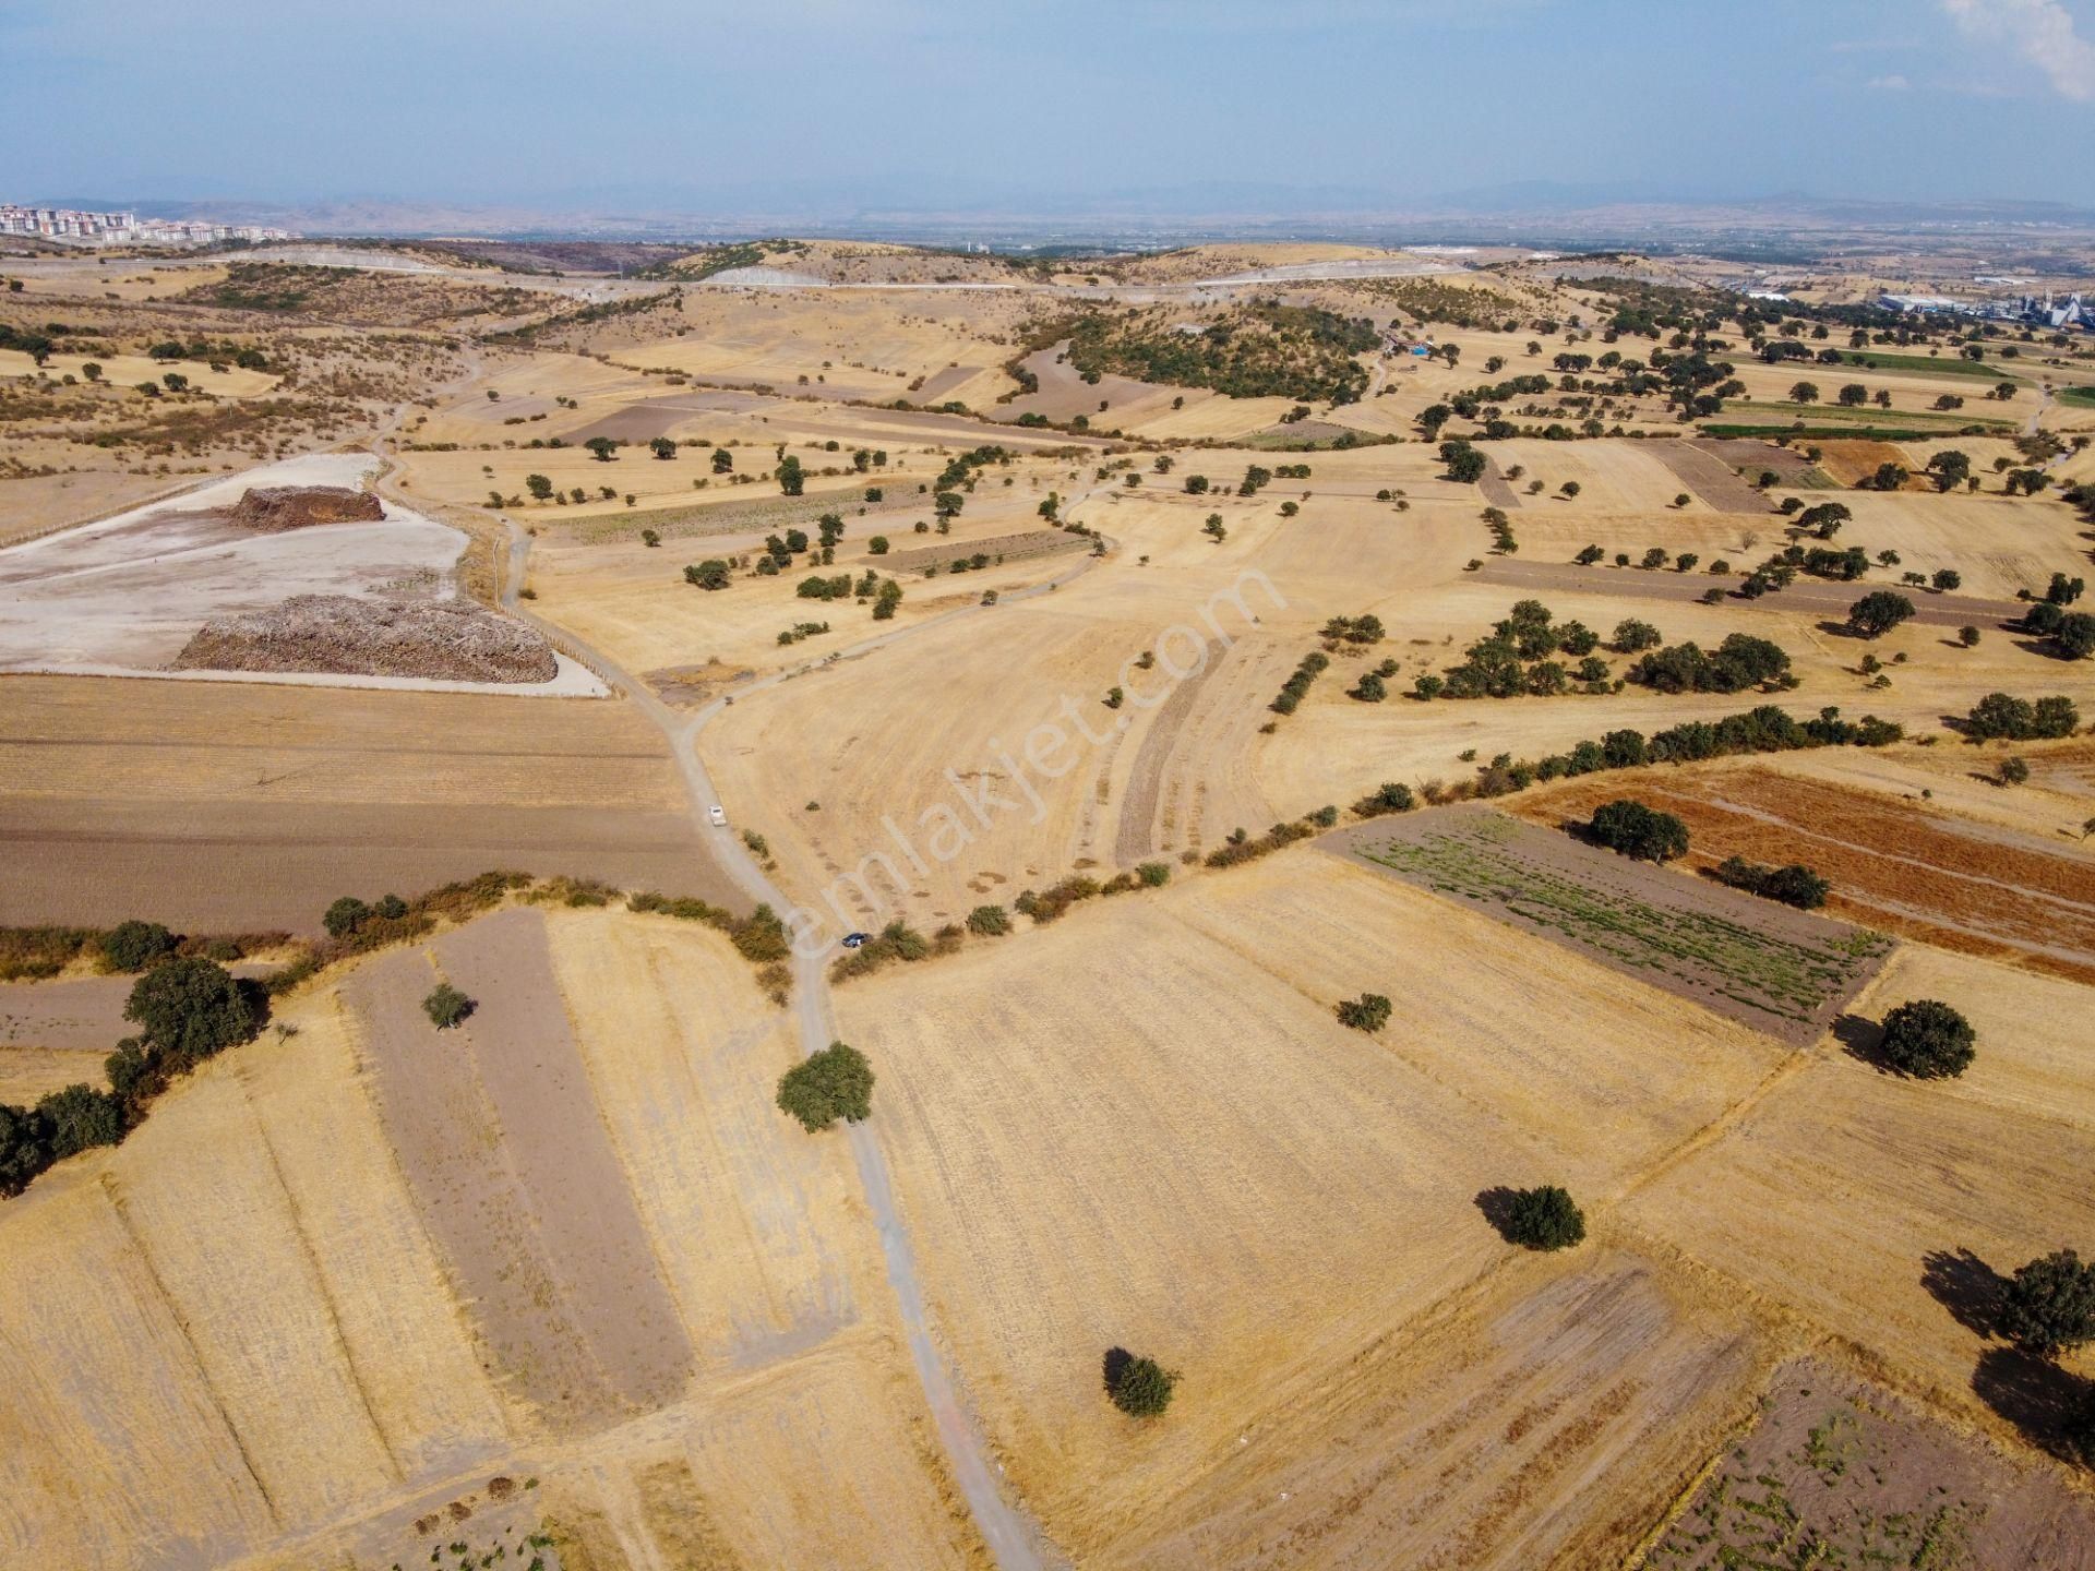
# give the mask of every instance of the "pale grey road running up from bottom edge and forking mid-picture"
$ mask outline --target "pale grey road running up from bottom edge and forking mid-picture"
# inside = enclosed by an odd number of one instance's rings
[[[528,603],[517,599],[517,591],[524,589],[530,536],[509,517],[503,517],[503,524],[509,530],[509,566],[501,591],[503,610],[574,649],[580,660],[595,666],[597,674],[618,687],[618,691],[639,706],[641,714],[660,727],[662,735],[668,737],[670,752],[677,756],[677,767],[683,773],[691,821],[698,825],[702,844],[710,848],[712,859],[752,901],[763,901],[775,911],[790,911],[792,901],[786,899],[765,869],[758,867],[756,859],[742,844],[742,838],[733,829],[712,827],[706,813],[706,809],[719,802],[721,796],[714,792],[706,765],[698,756],[698,733],[708,721],[712,721],[714,714],[727,708],[731,698],[716,698],[712,704],[706,704],[689,716],[677,714],[668,704],[656,698],[645,683],[610,660],[601,649],[582,643],[566,628],[553,626],[534,616],[526,607]],[[1050,584],[1068,582],[1068,578],[1075,578],[1089,566],[1091,559],[1087,557],[1081,566],[1056,580],[1050,580]],[[1012,595],[1006,595],[1001,603],[1048,593],[1050,584],[1014,591]],[[911,626],[863,639],[836,651],[828,660],[863,656],[892,643],[895,639],[922,633],[924,628],[939,626],[941,622],[951,622],[957,616],[976,616],[993,610],[995,607],[989,605],[964,605],[926,622],[913,622]],[[817,660],[792,666],[790,670],[779,670],[760,681],[746,683],[735,691],[746,695],[765,687],[775,687],[777,683],[798,677],[819,664],[823,662]],[[828,1047],[838,1035],[836,1012],[830,1001],[832,957],[834,953],[828,945],[813,953],[794,953],[794,1010],[800,1024],[802,1054]],[[932,1343],[930,1318],[924,1307],[924,1282],[918,1276],[916,1251],[909,1244],[909,1230],[895,1207],[895,1183],[888,1175],[888,1160],[880,1150],[880,1139],[869,1123],[851,1125],[848,1139],[851,1154],[859,1167],[859,1186],[865,1192],[865,1204],[874,1215],[874,1227],[880,1232],[880,1253],[886,1261],[888,1286],[895,1290],[895,1305],[901,1311],[903,1334],[909,1343],[909,1359],[916,1364],[918,1380],[924,1387],[924,1401],[930,1408],[932,1420],[939,1424],[939,1439],[945,1445],[953,1481],[968,1500],[968,1510],[974,1514],[976,1531],[980,1531],[983,1542],[989,1544],[989,1550],[1001,1571],[1045,1571],[1050,1558],[1043,1537],[1039,1529],[1033,1527],[1031,1519],[1027,1519],[1027,1514],[1012,1504],[1010,1498],[1006,1498],[1006,1491],[997,1483],[999,1468],[989,1458],[989,1445],[983,1439],[983,1431],[976,1424],[974,1414],[962,1403],[953,1385],[953,1374],[939,1355],[939,1347]]]

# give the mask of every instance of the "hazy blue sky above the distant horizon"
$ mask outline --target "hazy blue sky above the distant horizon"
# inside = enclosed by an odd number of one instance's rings
[[[0,0],[0,201],[2095,207],[2095,0]]]

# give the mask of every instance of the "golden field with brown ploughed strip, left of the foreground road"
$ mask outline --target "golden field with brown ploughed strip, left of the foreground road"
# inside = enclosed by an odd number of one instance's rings
[[[4,1558],[419,1563],[530,1477],[570,1565],[980,1563],[723,938],[515,909],[281,1020],[0,1213]]]

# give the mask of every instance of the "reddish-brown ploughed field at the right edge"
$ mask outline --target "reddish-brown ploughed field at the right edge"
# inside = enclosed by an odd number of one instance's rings
[[[2095,982],[2095,871],[2030,836],[1758,765],[1636,783],[1592,777],[1523,798],[1515,811],[1563,823],[1617,796],[1686,823],[1695,871],[1724,857],[1804,863],[1831,880],[1831,915]]]

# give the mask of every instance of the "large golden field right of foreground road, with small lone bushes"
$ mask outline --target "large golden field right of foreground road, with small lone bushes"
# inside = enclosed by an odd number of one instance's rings
[[[1100,943],[1119,966],[1096,964]],[[1381,1037],[1332,1018],[1360,989],[1397,999]],[[1548,1041],[1517,1024],[1534,1018],[1523,999],[1550,1012]],[[1626,1315],[1640,1353],[1626,1343],[1534,1401],[1584,1414],[1550,1431],[1578,1470],[1630,1443],[1622,1424],[1649,1424],[1653,1498],[1695,1466],[1703,1441],[1684,1433],[1722,1424],[1749,1378],[1739,1322],[1632,1259],[1544,1274],[1554,1286],[1510,1271],[1477,1196],[1544,1175],[1619,1190],[1747,1096],[1779,1049],[1483,917],[1295,853],[853,984],[840,1010],[895,1077],[882,1119],[930,1240],[932,1305],[1010,1477],[1079,1558],[1374,1563],[1406,1512],[1435,1533],[1416,1563],[1521,1565],[1523,1544],[1607,1542],[1613,1529],[1542,1527],[1515,1506],[1525,1452],[1490,1450],[1483,1420],[1462,1443],[1487,1447],[1487,1470],[1454,1502],[1376,1464],[1404,1454],[1406,1426],[1462,1406],[1425,1399],[1416,1372],[1487,1385],[1494,1357],[1525,1357],[1494,1343],[1569,1334],[1559,1315],[1607,1338]],[[1186,1374],[1184,1416],[1175,1406],[1154,1437],[1096,1397],[1115,1345]],[[1469,1374],[1446,1372],[1454,1347]],[[1615,1357],[1655,1364],[1609,1372]],[[1632,1420],[1619,1403],[1638,1382],[1666,1395]],[[1467,1473],[1456,1456],[1441,1456],[1450,1475]],[[1326,1533],[1345,1548],[1311,1552]]]

